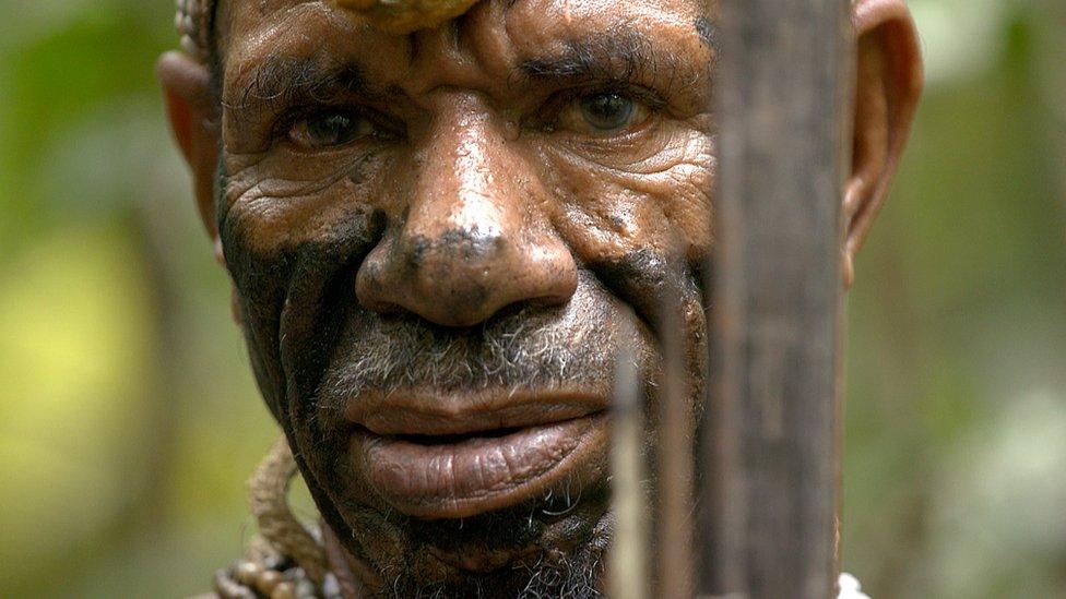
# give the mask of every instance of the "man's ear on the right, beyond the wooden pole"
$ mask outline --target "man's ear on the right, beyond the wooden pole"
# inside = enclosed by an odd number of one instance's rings
[[[856,0],[852,23],[858,62],[852,172],[843,197],[845,288],[899,166],[923,81],[917,32],[903,0]]]

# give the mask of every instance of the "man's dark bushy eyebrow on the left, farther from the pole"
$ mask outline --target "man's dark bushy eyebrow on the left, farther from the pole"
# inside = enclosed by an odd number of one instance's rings
[[[358,67],[328,64],[316,57],[272,56],[236,85],[239,89],[223,99],[227,109],[328,104],[353,94],[372,95]]]

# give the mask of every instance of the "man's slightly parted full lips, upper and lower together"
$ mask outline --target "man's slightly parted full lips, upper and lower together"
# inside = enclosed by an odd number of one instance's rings
[[[367,397],[350,405],[350,457],[392,507],[459,518],[514,505],[565,477],[594,478],[605,398],[522,394]],[[580,483],[580,481],[579,481]]]

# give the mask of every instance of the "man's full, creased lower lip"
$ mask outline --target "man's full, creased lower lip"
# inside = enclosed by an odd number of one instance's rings
[[[599,414],[437,445],[359,430],[352,435],[348,455],[395,510],[416,517],[462,518],[547,491],[596,462],[605,441],[606,416]]]

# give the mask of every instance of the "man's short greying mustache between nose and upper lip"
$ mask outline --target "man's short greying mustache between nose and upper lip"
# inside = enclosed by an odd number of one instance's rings
[[[454,393],[602,384],[614,371],[620,314],[596,297],[600,290],[582,273],[567,306],[518,304],[467,328],[355,306],[318,390],[320,406],[405,387]]]

